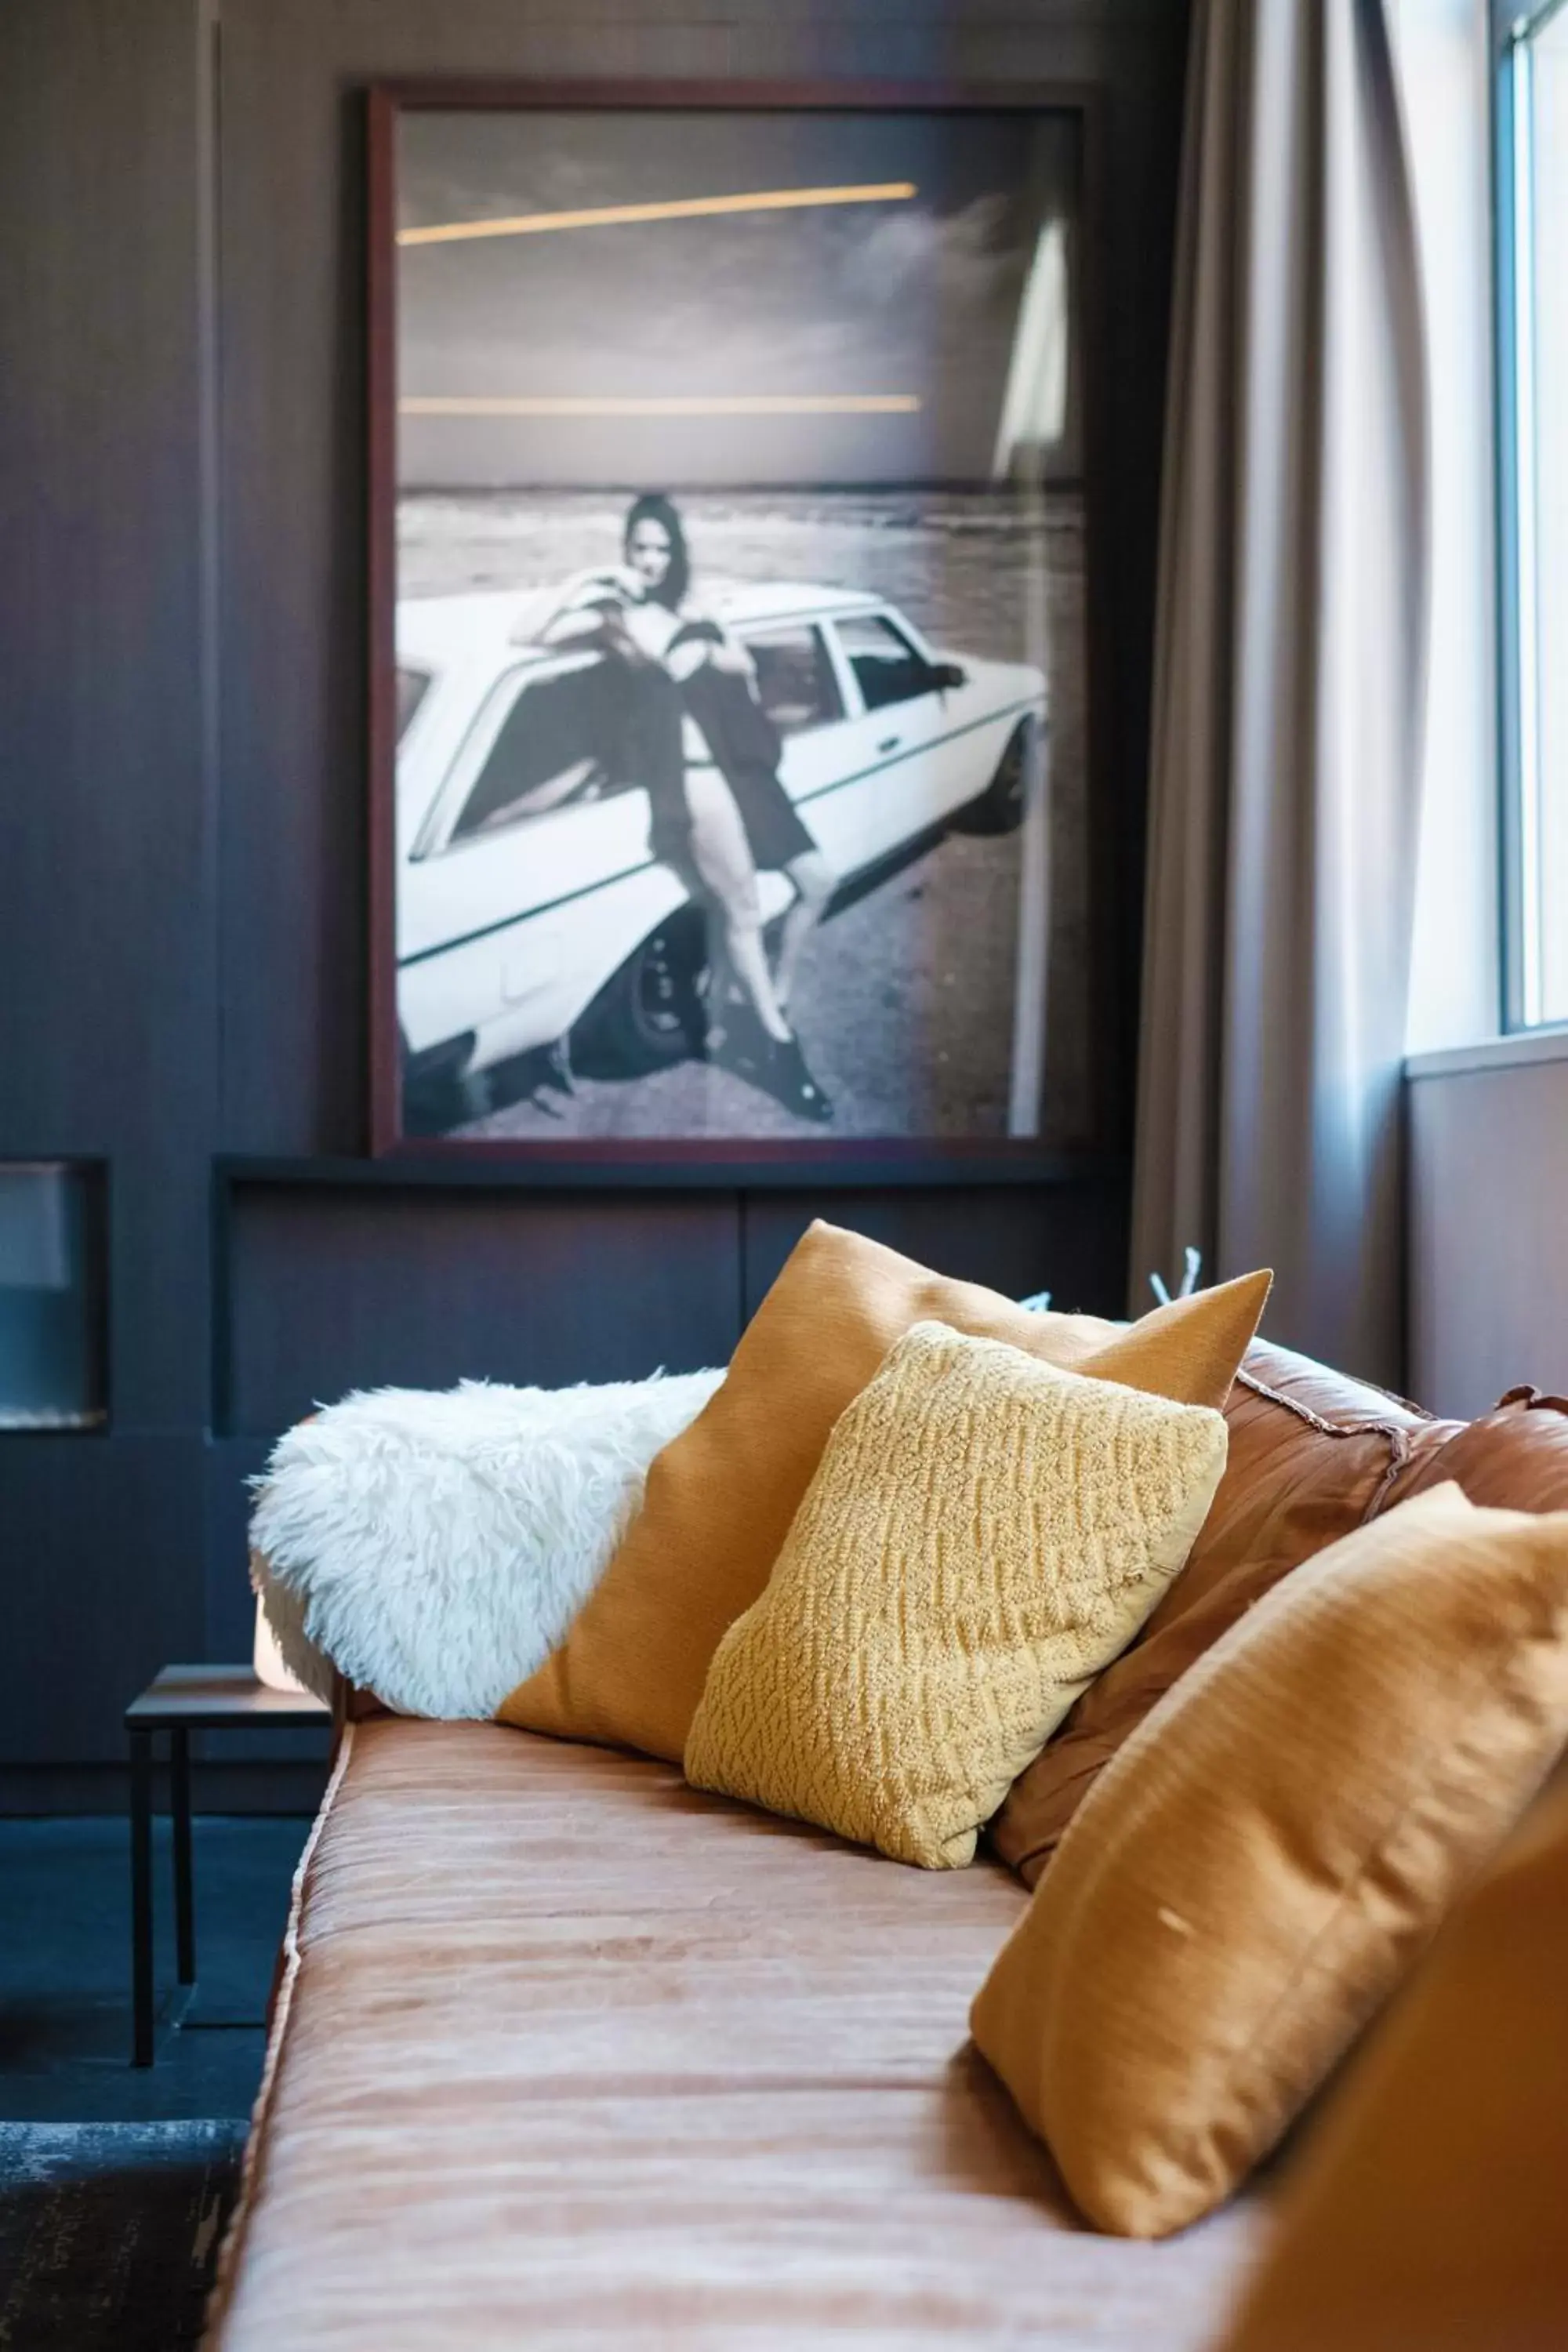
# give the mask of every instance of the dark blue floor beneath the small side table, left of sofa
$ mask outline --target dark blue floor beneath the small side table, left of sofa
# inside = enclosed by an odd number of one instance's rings
[[[195,1823],[197,1985],[132,2067],[127,1825],[0,1820],[0,2122],[244,2117],[306,1818]],[[167,1825],[158,1825],[158,1990],[174,1987]],[[240,2023],[233,2023],[240,2020]]]

